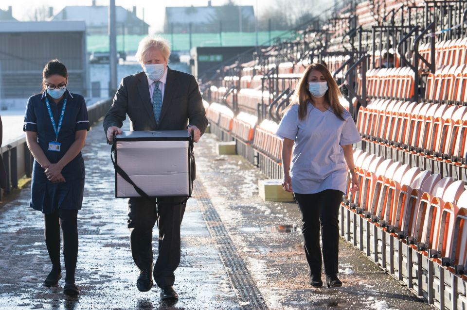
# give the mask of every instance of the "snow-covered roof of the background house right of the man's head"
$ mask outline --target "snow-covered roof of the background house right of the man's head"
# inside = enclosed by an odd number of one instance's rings
[[[234,6],[234,8],[239,10],[239,6]],[[240,6],[240,8],[243,19],[254,21],[252,5]],[[238,20],[239,14],[232,12],[232,6],[177,6],[165,8],[165,21],[168,24],[209,24],[218,19],[219,16],[230,16],[230,19]]]

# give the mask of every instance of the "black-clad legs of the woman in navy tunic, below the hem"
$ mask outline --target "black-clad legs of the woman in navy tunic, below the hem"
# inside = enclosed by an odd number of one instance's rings
[[[52,262],[52,270],[58,272],[60,267],[60,227],[63,232],[63,258],[67,282],[74,282],[74,272],[78,259],[78,210],[58,209],[54,213],[44,214],[45,244]]]

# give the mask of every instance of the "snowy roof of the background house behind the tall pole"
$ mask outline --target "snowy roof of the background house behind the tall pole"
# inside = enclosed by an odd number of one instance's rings
[[[143,22],[133,12],[121,6],[115,7],[117,23]],[[58,12],[52,20],[84,20],[88,27],[102,27],[108,23],[108,6],[67,6]],[[147,25],[147,23],[145,23]]]

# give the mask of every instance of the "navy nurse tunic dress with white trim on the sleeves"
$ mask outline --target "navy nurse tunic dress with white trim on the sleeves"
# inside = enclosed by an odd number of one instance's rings
[[[49,117],[46,97],[49,99],[50,108],[58,126],[63,103],[67,99],[65,114],[57,141],[61,143],[59,152],[49,151],[49,143],[55,141],[55,132]],[[29,98],[24,116],[24,131],[37,132],[37,142],[51,163],[58,161],[65,155],[75,140],[75,132],[90,129],[88,110],[84,98],[72,94],[69,90],[58,103],[47,95],[47,91]],[[62,170],[66,182],[52,183],[45,175],[37,161],[33,164],[33,177],[31,184],[30,206],[43,213],[53,213],[56,209],[80,210],[83,203],[84,192],[84,160],[81,152]]]

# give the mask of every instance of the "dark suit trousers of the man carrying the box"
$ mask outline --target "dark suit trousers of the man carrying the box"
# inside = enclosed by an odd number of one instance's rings
[[[179,197],[158,197],[157,202],[181,202]],[[157,221],[159,228],[159,255],[154,264],[154,281],[159,287],[173,285],[174,271],[180,264],[180,225],[186,203],[157,206],[143,197],[128,201],[128,228],[130,229],[131,254],[140,270],[153,265],[152,229]],[[159,213],[159,218],[157,216]]]

